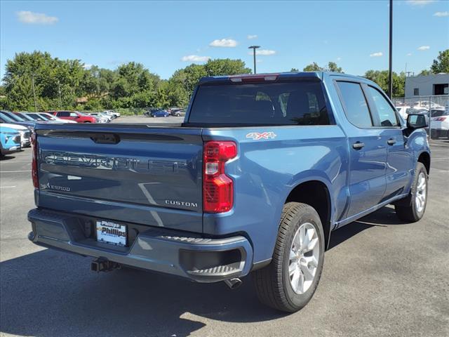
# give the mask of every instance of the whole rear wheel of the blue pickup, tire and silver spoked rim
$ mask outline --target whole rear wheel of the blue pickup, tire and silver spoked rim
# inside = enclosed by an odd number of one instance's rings
[[[257,297],[277,310],[300,310],[314,295],[323,261],[318,213],[307,204],[289,202],[283,207],[272,262],[254,273]]]

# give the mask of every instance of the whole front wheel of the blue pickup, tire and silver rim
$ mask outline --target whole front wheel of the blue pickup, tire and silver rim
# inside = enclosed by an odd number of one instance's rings
[[[406,200],[394,205],[396,215],[403,221],[414,223],[424,216],[427,206],[427,170],[420,162],[416,164],[412,189]]]

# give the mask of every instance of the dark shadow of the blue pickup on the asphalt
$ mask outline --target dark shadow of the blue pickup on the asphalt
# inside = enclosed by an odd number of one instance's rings
[[[392,216],[384,208],[344,226],[333,232],[331,246]],[[230,291],[223,282],[195,284],[128,269],[96,274],[89,267],[89,258],[48,249],[0,263],[1,333],[180,337],[202,329],[206,319],[263,322],[286,315],[260,305],[250,276]]]

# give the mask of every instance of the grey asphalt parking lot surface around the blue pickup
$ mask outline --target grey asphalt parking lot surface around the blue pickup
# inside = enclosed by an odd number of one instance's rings
[[[31,150],[8,156],[0,161],[0,334],[449,336],[449,146],[431,150],[424,218],[401,223],[387,206],[333,232],[314,298],[291,315],[260,305],[250,277],[231,291],[140,270],[96,274],[90,258],[35,246],[27,239]]]

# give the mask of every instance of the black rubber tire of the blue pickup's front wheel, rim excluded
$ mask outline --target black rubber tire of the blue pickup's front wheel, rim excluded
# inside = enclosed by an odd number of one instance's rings
[[[425,177],[425,201],[424,208],[419,211],[417,209],[417,203],[415,202],[416,194],[417,194],[417,185],[418,185],[418,177],[421,173],[424,173]],[[427,170],[425,166],[418,162],[415,166],[415,172],[413,173],[413,182],[412,188],[410,190],[409,196],[399,201],[394,205],[394,210],[396,211],[396,216],[400,220],[406,221],[408,223],[415,223],[418,220],[421,220],[422,216],[424,216],[424,212],[426,211],[427,206],[427,190],[429,187],[429,177],[427,176]]]

